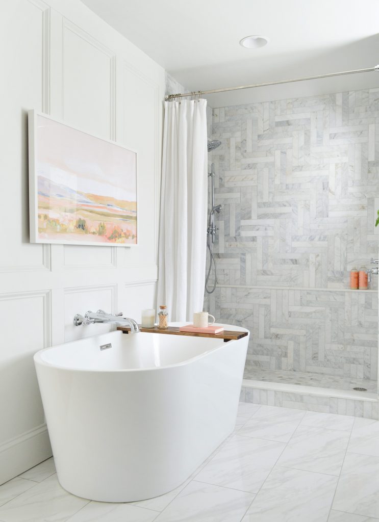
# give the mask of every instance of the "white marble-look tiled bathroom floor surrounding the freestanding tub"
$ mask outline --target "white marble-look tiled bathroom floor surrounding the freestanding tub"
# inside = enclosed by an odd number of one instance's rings
[[[172,492],[80,499],[51,458],[0,485],[0,522],[379,521],[378,440],[379,421],[241,403],[234,434]]]

